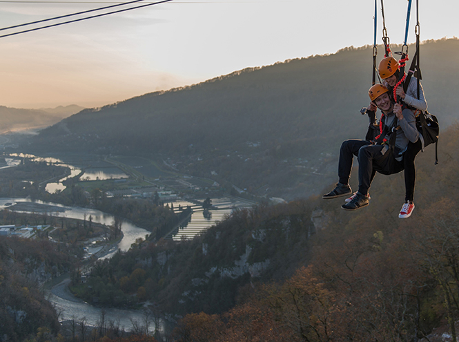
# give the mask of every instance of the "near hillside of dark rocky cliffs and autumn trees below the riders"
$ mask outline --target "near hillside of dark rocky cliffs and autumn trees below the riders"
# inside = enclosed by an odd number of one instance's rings
[[[378,174],[358,211],[320,196],[234,211],[193,240],[100,260],[78,293],[188,313],[175,341],[445,341],[459,319],[458,130],[442,132],[440,164],[430,146],[418,155],[406,220],[403,173]]]

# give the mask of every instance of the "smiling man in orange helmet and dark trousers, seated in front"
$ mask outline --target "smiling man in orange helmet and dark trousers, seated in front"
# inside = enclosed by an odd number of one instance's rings
[[[402,110],[400,104],[394,104],[389,96],[389,90],[382,84],[375,84],[369,89],[371,102],[383,113],[382,134],[376,141],[346,140],[340,149],[338,163],[338,184],[335,189],[326,193],[322,198],[338,198],[352,194],[349,186],[354,155],[359,162],[359,189],[350,200],[342,205],[342,209],[355,210],[369,205],[368,190],[371,181],[378,171],[384,174],[398,173],[404,169],[402,155],[409,142],[416,142],[419,137],[416,129],[416,118],[408,108]],[[400,129],[396,129],[400,126]],[[395,149],[393,155],[387,154],[389,141],[395,134]],[[391,158],[391,160],[388,160]],[[411,213],[410,213],[411,214]]]

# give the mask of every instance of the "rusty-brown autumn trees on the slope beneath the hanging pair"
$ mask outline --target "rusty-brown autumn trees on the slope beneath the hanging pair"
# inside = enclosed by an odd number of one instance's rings
[[[433,151],[418,155],[411,218],[397,218],[402,174],[377,175],[371,205],[355,213],[317,200],[326,225],[309,263],[284,281],[246,287],[228,312],[188,314],[177,341],[428,341],[438,326],[457,341],[457,133],[443,133],[439,166]]]

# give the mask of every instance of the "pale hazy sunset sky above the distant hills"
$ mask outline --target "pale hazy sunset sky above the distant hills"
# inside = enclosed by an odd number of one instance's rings
[[[459,37],[459,1],[419,1],[422,40]],[[0,1],[0,23],[7,27],[113,3]],[[384,1],[392,44],[403,42],[407,4]],[[416,0],[412,6],[409,42],[415,39]],[[250,66],[372,45],[373,14],[373,0],[179,0],[4,37],[0,105],[103,106]],[[380,44],[380,9],[378,25]],[[0,34],[8,32],[14,30]]]

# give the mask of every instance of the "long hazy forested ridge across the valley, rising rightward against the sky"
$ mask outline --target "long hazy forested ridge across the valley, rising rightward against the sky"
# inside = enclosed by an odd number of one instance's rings
[[[421,48],[429,110],[445,127],[456,120],[459,105],[459,40],[427,41]],[[409,53],[414,52],[410,46]],[[309,160],[308,167],[326,173],[323,161],[311,161],[324,155],[336,158],[342,140],[364,137],[367,117],[359,111],[369,103],[371,56],[371,46],[345,48],[333,55],[247,68],[201,84],[87,109],[43,130],[32,145],[46,151],[162,153],[182,158],[184,173],[211,176],[211,169],[219,175],[229,171],[240,187],[268,184],[271,189],[293,189],[303,175],[289,176],[290,184],[275,184],[286,178],[286,171],[271,169],[263,178],[266,163],[302,158]],[[226,162],[236,151],[244,159]],[[188,167],[191,153],[203,161]],[[248,177],[242,163],[249,158],[263,166],[253,165],[253,178],[244,178],[238,173]]]

